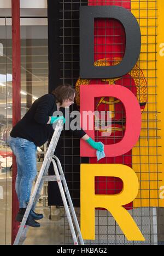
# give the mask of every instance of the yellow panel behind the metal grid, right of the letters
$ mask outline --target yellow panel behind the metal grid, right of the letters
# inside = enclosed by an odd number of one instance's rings
[[[156,56],[156,51],[159,51],[159,47],[157,50],[156,42],[158,41],[158,45],[162,42],[164,43],[162,28],[164,22],[164,1],[157,1],[157,5],[153,1],[131,0],[131,11],[138,20],[142,34],[142,46],[138,65],[148,83],[148,101],[142,114],[142,131],[140,132],[140,139],[136,147],[132,149],[132,168],[136,171],[139,179],[139,192],[137,198],[133,201],[134,207],[164,207],[164,199],[159,199],[161,193],[160,186],[164,185],[163,160],[157,156],[157,154],[162,154],[163,151],[164,122],[156,121],[157,119],[161,120],[163,114],[162,66],[164,57],[160,57],[159,54]],[[158,21],[156,22],[155,18],[157,17]],[[155,26],[158,26],[158,33]],[[156,34],[158,38],[155,36]],[[155,87],[156,77],[158,77],[157,89]],[[161,114],[155,113],[156,110],[161,112]],[[163,137],[162,140],[157,138],[159,136]],[[157,147],[161,146],[161,144],[162,148]]]

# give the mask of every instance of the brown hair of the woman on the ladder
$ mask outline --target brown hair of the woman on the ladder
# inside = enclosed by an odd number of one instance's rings
[[[69,84],[62,84],[55,88],[52,91],[52,94],[55,95],[56,101],[60,102],[61,104],[65,99],[72,99],[74,98],[74,94],[76,93],[75,89]]]

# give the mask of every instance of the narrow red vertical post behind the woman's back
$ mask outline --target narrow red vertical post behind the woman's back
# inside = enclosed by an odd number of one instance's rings
[[[11,1],[12,8],[12,44],[13,44],[13,126],[21,118],[21,96],[20,96],[20,2],[19,0]],[[13,180],[12,180],[12,230],[11,243],[14,243],[18,222],[15,216],[19,209],[19,203],[15,192],[16,179],[16,160],[13,155]]]

